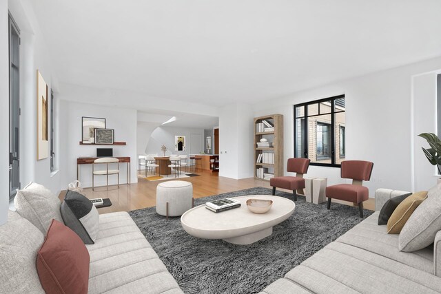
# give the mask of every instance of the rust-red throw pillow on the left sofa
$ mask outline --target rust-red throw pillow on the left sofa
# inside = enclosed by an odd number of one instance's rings
[[[46,293],[88,293],[88,249],[74,231],[52,220],[37,254],[37,272]]]

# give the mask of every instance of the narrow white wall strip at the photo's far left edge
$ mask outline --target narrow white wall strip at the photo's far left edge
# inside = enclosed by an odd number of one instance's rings
[[[0,1],[0,224],[8,218],[9,203],[9,50],[8,50],[8,3]]]

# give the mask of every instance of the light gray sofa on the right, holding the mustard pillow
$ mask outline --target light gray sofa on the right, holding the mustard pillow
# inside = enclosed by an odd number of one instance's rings
[[[261,293],[441,293],[441,231],[434,248],[406,253],[378,225],[383,204],[403,193],[378,189],[375,213]]]

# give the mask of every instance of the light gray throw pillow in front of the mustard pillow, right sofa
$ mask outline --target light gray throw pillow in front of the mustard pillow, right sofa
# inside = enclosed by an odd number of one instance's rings
[[[423,249],[435,240],[441,230],[441,184],[433,187],[427,199],[413,211],[398,238],[398,249],[413,252]]]

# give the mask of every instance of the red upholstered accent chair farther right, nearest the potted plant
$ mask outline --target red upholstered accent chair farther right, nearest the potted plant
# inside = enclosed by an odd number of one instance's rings
[[[328,209],[331,208],[331,199],[345,200],[358,204],[360,218],[363,217],[363,201],[369,198],[369,189],[363,187],[364,180],[370,180],[372,174],[373,162],[362,160],[346,160],[342,162],[341,177],[351,178],[352,185],[340,184],[326,188],[326,197],[328,198]]]

